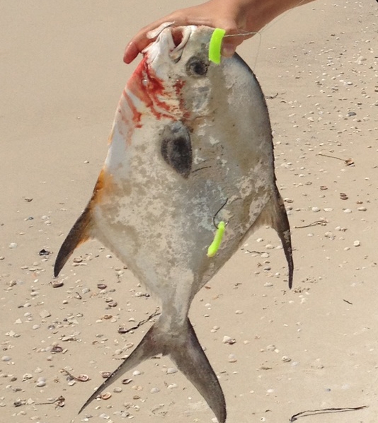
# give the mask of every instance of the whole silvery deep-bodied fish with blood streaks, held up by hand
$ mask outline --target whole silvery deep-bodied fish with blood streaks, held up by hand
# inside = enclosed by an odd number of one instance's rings
[[[151,34],[156,40],[122,92],[93,195],[57,255],[55,277],[75,248],[97,238],[161,303],[159,319],[80,412],[123,373],[163,354],[226,422],[190,304],[262,225],[282,242],[292,286],[290,224],[265,98],[239,55],[209,61],[213,31],[166,23]]]

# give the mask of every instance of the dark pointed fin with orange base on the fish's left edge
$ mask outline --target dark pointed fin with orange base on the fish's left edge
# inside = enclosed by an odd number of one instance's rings
[[[84,212],[81,214],[79,219],[76,220],[74,226],[72,226],[71,231],[67,235],[67,238],[62,243],[62,246],[59,249],[57,255],[57,260],[55,260],[54,265],[54,276],[57,277],[59,272],[62,270],[63,266],[66,264],[67,260],[74,253],[74,249],[91,238],[90,234],[91,228],[91,209],[86,207]]]

